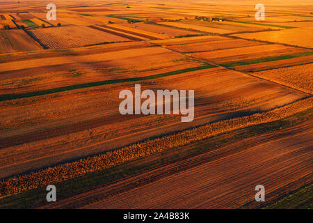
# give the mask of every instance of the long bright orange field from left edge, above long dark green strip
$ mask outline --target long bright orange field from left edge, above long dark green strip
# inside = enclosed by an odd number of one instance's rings
[[[53,66],[54,72],[58,72],[58,69],[62,66],[67,66],[68,70],[73,70],[73,66],[79,64],[80,68],[90,68],[92,70],[104,70],[104,74],[111,75],[110,72],[105,72],[112,68],[120,68],[123,71],[133,71],[130,75],[135,75],[136,71],[149,71],[157,68],[170,67],[179,63],[186,63],[186,56],[178,54],[176,52],[171,52],[168,49],[161,47],[152,47],[147,45],[146,47],[138,47],[136,49],[122,49],[113,52],[114,48],[108,52],[102,52],[100,50],[97,54],[92,56],[88,54],[83,54],[81,56],[73,57],[69,56],[54,56],[51,58],[41,58],[41,59],[28,59],[23,61],[10,61],[6,63],[6,66],[0,67],[1,74],[8,74],[9,72],[13,75],[17,75],[19,71],[24,72],[25,76],[33,75],[33,72],[37,74],[42,74],[46,70],[40,70],[40,68],[46,68],[47,66]],[[141,59],[143,63],[138,64],[134,59]],[[154,63],[154,61],[159,60],[159,63]],[[187,61],[188,62],[188,61]],[[193,61],[192,61],[193,62]],[[198,63],[198,62],[197,62]],[[198,63],[199,64],[199,63]],[[31,72],[32,71],[32,72]],[[51,72],[51,71],[49,71]],[[103,74],[102,74],[103,75]],[[19,75],[21,77],[21,75]],[[127,76],[125,76],[127,77]],[[128,76],[131,77],[131,76]],[[111,79],[115,79],[114,77]]]

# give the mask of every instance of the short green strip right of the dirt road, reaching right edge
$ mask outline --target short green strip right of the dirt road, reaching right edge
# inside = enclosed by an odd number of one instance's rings
[[[298,54],[290,54],[290,55],[284,55],[284,56],[274,56],[274,57],[266,57],[262,59],[254,59],[249,61],[238,61],[233,63],[223,63],[222,66],[225,66],[227,68],[233,68],[237,66],[243,66],[243,65],[250,65],[250,64],[256,64],[256,63],[266,63],[271,61],[281,61],[285,59],[293,59],[301,56],[311,56],[313,55],[313,52],[302,52]]]

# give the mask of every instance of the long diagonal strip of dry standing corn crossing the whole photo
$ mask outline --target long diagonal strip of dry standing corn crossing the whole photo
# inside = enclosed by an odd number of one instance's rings
[[[32,172],[31,174],[3,179],[0,181],[0,197],[17,194],[24,190],[32,190],[51,183],[61,182],[83,174],[100,171],[121,164],[122,162],[135,160],[138,157],[175,148],[177,146],[191,144],[194,141],[214,137],[217,134],[222,134],[231,130],[277,121],[296,114],[297,112],[309,109],[312,105],[313,98],[307,98],[262,114],[253,114],[251,116],[211,123],[191,130],[185,130],[177,134],[170,134],[165,137],[150,139],[131,146],[125,146],[116,149],[115,151],[87,157],[76,162],[60,164],[56,167],[49,167],[41,171]]]

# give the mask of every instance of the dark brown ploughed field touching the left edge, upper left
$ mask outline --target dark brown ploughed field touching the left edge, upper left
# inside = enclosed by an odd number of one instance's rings
[[[22,30],[0,30],[0,54],[40,49],[42,47]]]

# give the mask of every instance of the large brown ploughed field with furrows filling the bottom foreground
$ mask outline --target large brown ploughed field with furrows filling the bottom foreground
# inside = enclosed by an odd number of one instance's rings
[[[271,202],[280,188],[293,184],[288,194],[312,174],[312,131],[310,121],[249,139],[253,146],[247,140],[248,149],[234,155],[210,161],[216,152],[210,151],[40,208],[240,208],[255,199],[259,184]],[[220,150],[232,147],[238,144]]]

